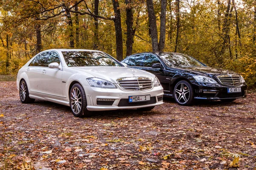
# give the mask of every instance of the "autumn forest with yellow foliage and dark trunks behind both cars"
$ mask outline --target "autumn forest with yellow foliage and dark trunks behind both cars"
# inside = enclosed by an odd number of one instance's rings
[[[189,54],[256,85],[256,0],[2,0],[0,75],[40,51]]]

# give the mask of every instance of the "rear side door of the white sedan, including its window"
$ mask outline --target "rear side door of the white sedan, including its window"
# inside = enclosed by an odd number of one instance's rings
[[[29,79],[30,94],[41,93],[42,91],[41,73],[43,68],[46,66],[48,55],[49,52],[39,54],[26,68],[26,73]]]

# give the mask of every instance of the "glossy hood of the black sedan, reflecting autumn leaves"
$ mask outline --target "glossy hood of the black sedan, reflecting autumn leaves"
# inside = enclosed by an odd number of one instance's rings
[[[225,70],[222,68],[213,68],[213,67],[182,67],[182,69],[186,71],[192,71],[198,74],[211,74],[211,75],[237,74],[233,71]]]

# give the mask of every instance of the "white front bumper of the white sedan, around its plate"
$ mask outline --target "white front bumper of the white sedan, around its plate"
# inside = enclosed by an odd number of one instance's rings
[[[94,88],[84,86],[88,111],[111,111],[117,109],[145,108],[163,104],[163,87],[157,86],[145,91],[125,91],[119,88]],[[129,103],[128,96],[150,95],[150,101]],[[97,99],[111,99],[99,101]]]

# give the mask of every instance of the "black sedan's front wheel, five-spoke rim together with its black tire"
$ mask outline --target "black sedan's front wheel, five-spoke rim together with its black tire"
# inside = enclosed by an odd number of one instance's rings
[[[175,85],[174,99],[179,105],[191,105],[194,98],[194,91],[189,82],[181,80]]]

